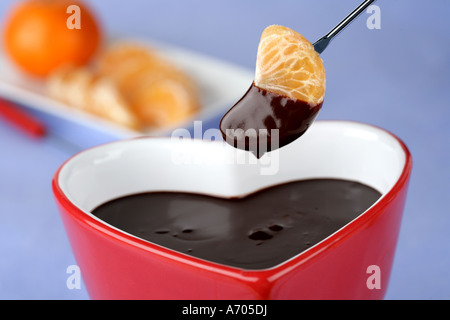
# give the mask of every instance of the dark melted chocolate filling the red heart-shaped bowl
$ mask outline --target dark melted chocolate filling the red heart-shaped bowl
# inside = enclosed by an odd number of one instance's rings
[[[153,192],[101,205],[93,214],[137,237],[243,269],[280,264],[359,216],[380,197],[363,184],[296,181],[243,198]]]

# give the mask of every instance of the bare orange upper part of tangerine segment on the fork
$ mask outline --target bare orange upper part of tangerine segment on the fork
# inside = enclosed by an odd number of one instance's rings
[[[269,26],[258,46],[255,85],[318,105],[325,96],[323,61],[300,33],[283,26]]]

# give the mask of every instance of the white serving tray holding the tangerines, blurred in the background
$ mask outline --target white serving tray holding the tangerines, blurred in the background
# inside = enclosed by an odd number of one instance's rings
[[[241,98],[253,81],[253,70],[215,59],[183,48],[142,39],[128,39],[146,44],[178,67],[185,70],[196,81],[200,90],[202,108],[185,126],[194,120],[207,121],[223,114]],[[42,81],[23,75],[11,63],[0,48],[0,97],[28,108],[92,127],[117,137],[142,135],[164,135],[174,128],[163,128],[147,132],[124,129],[110,121],[76,110],[46,95]],[[178,127],[184,127],[179,124]]]

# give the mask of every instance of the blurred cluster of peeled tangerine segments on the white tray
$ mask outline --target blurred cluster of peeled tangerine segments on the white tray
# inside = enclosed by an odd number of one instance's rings
[[[53,74],[48,88],[72,107],[141,131],[174,126],[200,109],[194,80],[136,43],[115,43],[92,67]]]

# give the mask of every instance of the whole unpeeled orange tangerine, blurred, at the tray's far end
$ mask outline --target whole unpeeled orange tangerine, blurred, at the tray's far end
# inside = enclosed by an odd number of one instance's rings
[[[69,27],[69,6],[79,9],[79,28]],[[12,61],[38,77],[65,64],[85,65],[101,40],[97,18],[79,0],[22,1],[10,11],[3,34],[3,46]]]

